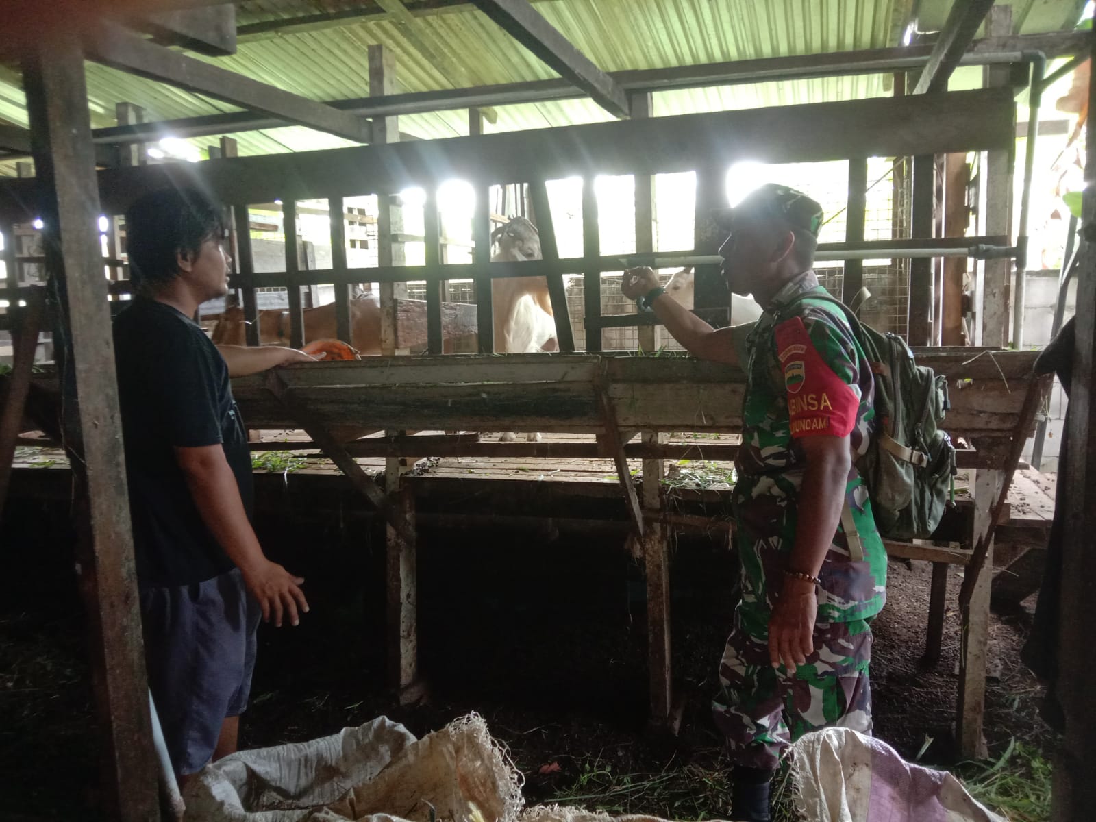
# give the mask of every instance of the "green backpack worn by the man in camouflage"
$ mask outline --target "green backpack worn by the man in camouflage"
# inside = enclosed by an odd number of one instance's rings
[[[876,431],[856,463],[876,527],[891,539],[927,539],[944,516],[956,472],[955,446],[940,429],[951,407],[947,377],[917,365],[902,338],[865,326],[833,295],[801,294],[780,313],[807,299],[841,308],[876,377]]]

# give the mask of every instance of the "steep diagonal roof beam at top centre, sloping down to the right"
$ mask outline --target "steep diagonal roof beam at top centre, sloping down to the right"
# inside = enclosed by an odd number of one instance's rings
[[[615,117],[628,116],[628,96],[616,80],[602,71],[528,0],[472,0],[476,8],[514,39],[558,71],[560,77],[589,94]]]

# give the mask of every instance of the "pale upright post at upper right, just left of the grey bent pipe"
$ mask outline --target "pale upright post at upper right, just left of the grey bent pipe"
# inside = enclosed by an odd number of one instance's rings
[[[1011,5],[995,5],[990,10],[986,27],[989,36],[1004,37],[1012,34],[1013,9]],[[985,84],[1008,85],[1011,69],[1008,66],[987,66],[985,68]],[[1012,237],[1012,202],[1013,202],[1013,148],[985,153],[985,221],[983,231],[986,235],[1004,235]],[[986,260],[983,263],[982,294],[975,302],[981,311],[982,339],[977,345],[1008,345],[1009,277],[1012,260]]]

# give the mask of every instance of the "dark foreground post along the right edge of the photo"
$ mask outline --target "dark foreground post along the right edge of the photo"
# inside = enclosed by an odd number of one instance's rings
[[[1096,54],[1096,34],[1092,54]],[[1096,111],[1096,88],[1088,87],[1088,110]],[[1096,602],[1096,139],[1089,139],[1085,158],[1085,193],[1077,276],[1076,340],[1073,352],[1073,386],[1070,390],[1065,528],[1062,545],[1062,583],[1059,596],[1058,670],[1055,690],[1065,717],[1065,732],[1054,762],[1051,819],[1068,822],[1086,819],[1096,807],[1096,711],[1092,688],[1096,682],[1096,657],[1091,650],[1092,623],[1086,618]],[[1088,446],[1088,447],[1086,447]]]

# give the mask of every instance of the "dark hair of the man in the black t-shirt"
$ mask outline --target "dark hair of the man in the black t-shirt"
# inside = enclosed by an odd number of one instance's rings
[[[135,287],[170,283],[176,255],[197,254],[202,243],[225,236],[221,206],[196,189],[162,189],[126,209],[126,251]]]

